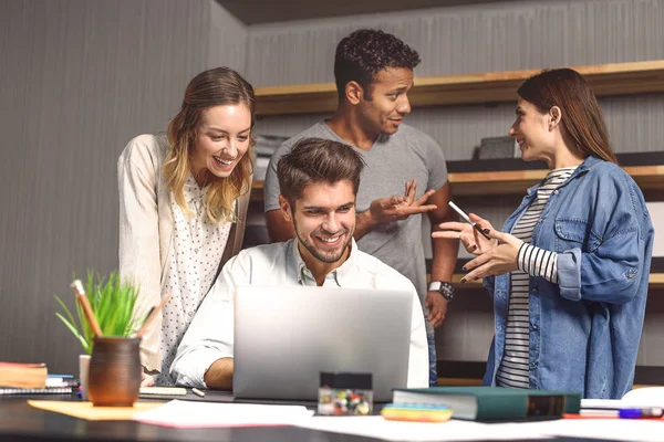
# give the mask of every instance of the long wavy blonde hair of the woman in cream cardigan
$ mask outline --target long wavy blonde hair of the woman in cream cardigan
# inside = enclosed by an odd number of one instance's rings
[[[190,173],[190,155],[200,126],[203,110],[214,106],[247,106],[251,114],[251,128],[256,123],[256,98],[253,87],[229,67],[216,67],[201,72],[189,82],[179,113],[168,125],[170,151],[164,162],[166,183],[173,191],[176,203],[186,213],[191,213],[185,200],[184,187]],[[209,171],[206,213],[215,223],[227,220],[235,222],[234,201],[250,190],[253,171],[253,146],[249,137],[249,149],[227,178],[217,178]]]

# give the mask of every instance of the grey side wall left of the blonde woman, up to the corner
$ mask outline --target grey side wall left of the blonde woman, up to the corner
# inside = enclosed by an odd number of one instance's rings
[[[211,0],[0,0],[0,360],[77,371],[53,294],[73,305],[72,272],[117,267],[120,152],[246,49]]]

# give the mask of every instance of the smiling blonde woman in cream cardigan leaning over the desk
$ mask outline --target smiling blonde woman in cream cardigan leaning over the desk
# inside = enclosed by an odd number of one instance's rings
[[[117,161],[120,272],[141,284],[138,315],[169,295],[143,338],[144,386],[173,385],[177,346],[241,248],[255,107],[253,88],[238,73],[205,71],[187,86],[167,135],[137,136]]]

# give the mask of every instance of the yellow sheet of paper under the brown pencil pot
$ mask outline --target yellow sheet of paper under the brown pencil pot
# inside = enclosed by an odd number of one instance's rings
[[[89,421],[132,420],[134,414],[163,404],[163,402],[136,402],[134,407],[93,407],[92,402],[50,400],[29,400],[28,403],[40,410],[53,411]]]

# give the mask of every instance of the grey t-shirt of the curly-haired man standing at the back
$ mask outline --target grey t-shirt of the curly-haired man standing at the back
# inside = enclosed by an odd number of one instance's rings
[[[349,145],[334,134],[324,120],[286,140],[270,159],[266,175],[266,212],[279,209],[279,158],[289,151],[295,141],[308,137],[332,139]],[[428,189],[438,190],[447,182],[447,167],[440,147],[429,136],[405,124],[401,125],[396,134],[380,136],[370,150],[350,146],[366,162],[357,192],[357,212],[369,209],[371,202],[378,198],[404,194],[405,182],[414,178],[417,178],[416,198],[422,197]],[[421,217],[413,215],[405,221],[378,225],[362,236],[357,246],[411,280],[419,299],[424,301],[427,284]]]

